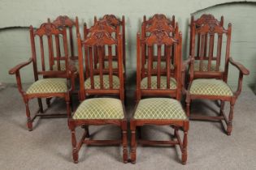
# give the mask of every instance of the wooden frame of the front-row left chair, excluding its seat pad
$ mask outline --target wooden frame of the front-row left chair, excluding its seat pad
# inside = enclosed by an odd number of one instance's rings
[[[123,65],[122,65],[122,41],[121,41],[121,35],[119,34],[118,39],[113,39],[108,32],[105,30],[95,30],[90,34],[89,37],[87,37],[85,40],[80,39],[80,34],[77,36],[77,44],[78,44],[78,56],[79,56],[79,64],[80,64],[80,100],[86,100],[87,94],[101,94],[101,95],[107,95],[107,94],[118,94],[119,99],[123,103],[123,109],[124,109],[124,79],[123,79]],[[102,55],[102,47],[103,45],[108,45],[109,47],[111,45],[117,45],[118,47],[118,64],[119,64],[119,89],[113,88],[113,69],[112,69],[112,56],[109,56],[109,62],[110,66],[108,70],[103,70],[102,62],[103,57],[105,55]],[[97,46],[97,50],[101,53],[99,53],[99,69],[93,68],[93,47]],[[85,89],[84,85],[84,60],[83,60],[83,49],[85,48],[85,66],[89,67],[89,79],[91,80],[91,87],[92,89]],[[95,54],[95,53],[94,53]],[[111,54],[111,53],[110,53]],[[95,71],[96,70],[96,71]],[[105,72],[104,72],[105,71]],[[105,89],[103,87],[103,78],[102,75],[108,71],[110,77],[110,89]],[[94,89],[93,85],[93,74],[99,74],[100,75],[100,89]],[[125,111],[125,109],[124,109]],[[122,139],[119,140],[93,140],[89,138],[89,128],[88,125],[118,125],[120,129],[122,130]],[[123,144],[123,160],[124,163],[128,162],[128,143],[127,143],[127,117],[124,113],[124,119],[86,119],[86,120],[75,120],[70,118],[68,120],[68,125],[70,130],[72,131],[72,147],[73,147],[73,159],[74,163],[78,163],[78,152],[80,151],[80,147],[83,143],[88,145],[117,145],[117,144]],[[80,142],[76,142],[76,127],[82,126],[85,128],[85,134],[80,139]]]

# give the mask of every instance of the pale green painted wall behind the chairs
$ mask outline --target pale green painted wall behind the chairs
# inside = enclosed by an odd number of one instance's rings
[[[228,2],[228,3],[225,3]],[[183,56],[187,57],[189,19],[191,14],[196,16],[202,13],[211,13],[219,18],[224,16],[225,25],[232,23],[232,57],[249,68],[251,74],[245,78],[245,84],[255,83],[256,43],[254,27],[256,26],[256,6],[252,2],[232,3],[230,0],[94,0],[94,1],[0,1],[0,82],[15,83],[15,76],[9,75],[8,70],[30,57],[30,42],[28,27],[33,24],[39,27],[47,18],[54,19],[58,15],[69,15],[80,19],[80,26],[86,22],[93,23],[93,16],[105,14],[124,15],[126,19],[126,45],[128,82],[132,88],[135,80],[136,68],[136,33],[139,31],[143,15],[151,16],[163,13],[171,17],[176,15],[180,31],[183,33]],[[236,1],[237,2],[237,1]],[[255,1],[256,2],[256,1]],[[222,4],[217,5],[216,4]],[[256,4],[256,3],[255,3]],[[202,10],[204,9],[204,10]],[[198,11],[198,12],[197,12]],[[246,11],[246,12],[245,12]],[[80,30],[82,30],[80,27]],[[1,29],[2,28],[2,29]],[[236,73],[232,70],[231,74]],[[237,75],[237,74],[236,74]],[[24,83],[33,81],[32,67],[28,66],[22,71]],[[231,76],[229,83],[236,84],[237,76]]]

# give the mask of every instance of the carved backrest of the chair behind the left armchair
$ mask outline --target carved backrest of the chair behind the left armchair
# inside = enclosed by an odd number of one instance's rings
[[[50,23],[50,19],[48,19]],[[75,47],[74,47],[74,40],[76,38],[76,34],[79,33],[79,23],[78,18],[76,16],[76,20],[70,19],[67,15],[59,15],[53,22],[57,28],[67,28],[68,30],[68,41],[69,41],[69,48],[70,48],[70,57],[72,60],[78,60],[78,57],[75,56]],[[76,29],[76,33],[73,32],[73,29]],[[74,35],[75,34],[75,35]]]

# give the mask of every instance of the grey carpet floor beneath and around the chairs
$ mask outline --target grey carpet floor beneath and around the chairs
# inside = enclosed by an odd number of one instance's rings
[[[133,92],[128,92],[131,116]],[[226,104],[225,110],[228,111]],[[36,111],[37,100],[30,103]],[[212,101],[195,100],[192,113],[211,114]],[[26,128],[24,102],[13,85],[0,90],[0,169],[256,169],[256,96],[244,89],[235,105],[231,136],[218,122],[190,121],[188,163],[180,164],[178,147],[137,147],[137,164],[123,164],[121,147],[82,147],[78,164],[72,162],[71,133],[67,118],[37,119]],[[51,112],[65,113],[63,100],[54,100]],[[90,126],[93,138],[119,138],[112,125]],[[77,128],[77,135],[82,133]],[[145,126],[144,138],[168,139],[168,126]],[[129,137],[130,138],[130,137]]]

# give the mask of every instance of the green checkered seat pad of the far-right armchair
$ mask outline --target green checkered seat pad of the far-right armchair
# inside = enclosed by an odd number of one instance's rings
[[[220,79],[195,79],[189,93],[192,95],[233,96],[232,90]]]

